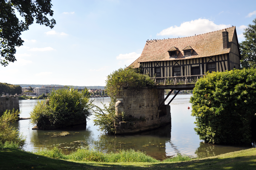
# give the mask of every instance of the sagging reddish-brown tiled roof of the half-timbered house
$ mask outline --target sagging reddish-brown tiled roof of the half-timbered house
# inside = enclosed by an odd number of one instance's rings
[[[228,48],[225,49],[223,49],[222,40],[222,32],[224,29],[192,37],[147,41],[141,56],[131,65],[134,65],[134,67],[137,68],[140,65],[136,62],[191,59],[229,53],[235,29],[236,27],[226,28],[229,36],[229,44]],[[183,51],[181,51],[177,55],[177,58],[170,58],[168,53],[170,48],[175,47],[177,49],[184,49],[188,45],[194,50],[192,56],[184,57]]]

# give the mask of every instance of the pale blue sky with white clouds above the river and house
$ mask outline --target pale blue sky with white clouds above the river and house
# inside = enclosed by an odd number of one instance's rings
[[[146,40],[189,37],[236,26],[239,42],[256,0],[52,0],[54,28],[32,24],[0,82],[105,86],[140,57]]]

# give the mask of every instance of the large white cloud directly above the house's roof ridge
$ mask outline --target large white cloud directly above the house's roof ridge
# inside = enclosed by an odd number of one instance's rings
[[[216,25],[210,20],[199,18],[198,20],[184,22],[180,24],[180,26],[171,26],[169,28],[166,28],[160,33],[157,33],[157,35],[193,36],[195,34],[204,34],[227,27],[230,27],[230,25]]]

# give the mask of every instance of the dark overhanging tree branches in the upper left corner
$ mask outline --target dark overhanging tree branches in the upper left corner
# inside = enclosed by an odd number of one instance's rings
[[[40,25],[53,28],[55,20],[49,20],[47,15],[52,16],[51,0],[0,0],[0,63],[7,66],[9,62],[17,61],[16,49],[23,45],[21,32],[29,29],[34,20]],[[15,9],[24,20],[19,20]]]

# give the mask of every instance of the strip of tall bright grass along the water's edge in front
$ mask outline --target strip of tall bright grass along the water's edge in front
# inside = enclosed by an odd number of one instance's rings
[[[38,155],[47,156],[57,159],[68,159],[74,161],[98,161],[98,162],[160,162],[151,156],[146,155],[145,152],[130,150],[120,150],[118,153],[102,153],[97,150],[78,149],[69,155],[64,155],[58,147],[54,147],[52,150],[44,149],[36,152]],[[177,155],[172,158],[165,159],[163,162],[177,162],[188,161],[193,158],[189,158],[186,155]]]

